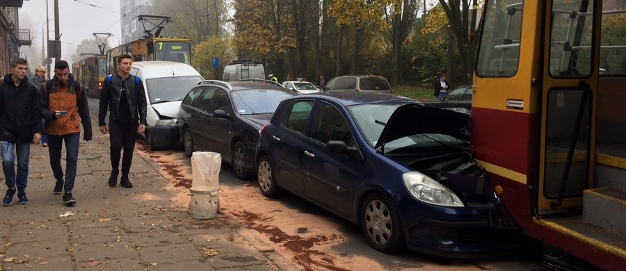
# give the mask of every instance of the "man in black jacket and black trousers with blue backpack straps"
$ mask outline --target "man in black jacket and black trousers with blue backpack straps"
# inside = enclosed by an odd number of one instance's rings
[[[120,186],[133,187],[128,179],[130,166],[133,160],[135,138],[137,132],[145,130],[146,101],[145,91],[141,80],[136,80],[130,74],[131,57],[127,54],[118,56],[118,73],[109,75],[100,92],[100,107],[98,111],[98,125],[100,131],[106,135],[111,132],[111,176],[109,186],[118,184],[120,166],[120,151],[124,149],[122,157],[122,177]],[[138,82],[138,83],[136,83]],[[106,108],[109,108],[109,129],[106,129],[104,118]]]

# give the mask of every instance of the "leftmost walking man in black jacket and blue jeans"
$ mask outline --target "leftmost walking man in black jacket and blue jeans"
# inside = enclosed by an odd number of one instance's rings
[[[29,63],[23,58],[11,60],[11,74],[0,82],[0,154],[7,190],[4,206],[13,204],[17,191],[19,204],[29,203],[26,183],[29,177],[31,141],[41,140],[41,108],[38,90],[29,83]],[[15,151],[15,154],[13,152]],[[17,174],[15,171],[17,156]]]

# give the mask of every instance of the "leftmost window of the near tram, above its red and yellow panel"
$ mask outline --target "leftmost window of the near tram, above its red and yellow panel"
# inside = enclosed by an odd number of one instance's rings
[[[481,77],[511,77],[517,73],[520,62],[523,1],[488,0],[485,5],[476,74]]]

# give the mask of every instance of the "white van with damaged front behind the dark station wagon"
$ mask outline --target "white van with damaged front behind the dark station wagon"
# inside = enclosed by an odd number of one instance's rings
[[[131,74],[145,88],[147,127],[143,137],[151,150],[180,145],[178,111],[189,90],[203,81],[190,65],[170,61],[132,63]]]

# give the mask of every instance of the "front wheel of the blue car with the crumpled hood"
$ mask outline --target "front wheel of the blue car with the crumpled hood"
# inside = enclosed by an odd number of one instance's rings
[[[372,193],[364,200],[361,227],[369,245],[380,252],[393,253],[406,247],[398,215],[380,193]]]

